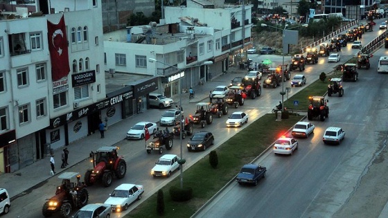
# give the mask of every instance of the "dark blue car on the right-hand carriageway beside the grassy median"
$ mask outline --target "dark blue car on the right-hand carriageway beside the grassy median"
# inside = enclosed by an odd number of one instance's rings
[[[249,163],[241,168],[240,172],[237,175],[236,181],[240,185],[243,183],[249,183],[254,184],[256,186],[258,180],[265,177],[266,171],[266,167]]]

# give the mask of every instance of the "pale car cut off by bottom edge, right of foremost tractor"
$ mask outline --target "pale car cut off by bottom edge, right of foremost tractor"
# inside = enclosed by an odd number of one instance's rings
[[[90,203],[78,210],[73,218],[109,218],[112,214],[112,206],[107,203]]]

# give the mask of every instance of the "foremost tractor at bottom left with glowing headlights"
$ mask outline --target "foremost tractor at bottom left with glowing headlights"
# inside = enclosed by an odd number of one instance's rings
[[[42,208],[44,217],[51,217],[59,212],[59,216],[55,217],[68,218],[73,208],[82,208],[87,205],[89,192],[85,188],[85,183],[80,182],[80,177],[78,172],[64,172],[58,176],[59,179],[62,179],[62,185],[57,187],[54,197],[44,202]],[[71,179],[75,178],[77,182],[71,182]]]

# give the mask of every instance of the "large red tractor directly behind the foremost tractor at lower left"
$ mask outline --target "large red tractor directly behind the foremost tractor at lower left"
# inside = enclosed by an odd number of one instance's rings
[[[93,170],[85,173],[85,184],[93,185],[96,181],[103,182],[105,187],[112,184],[113,176],[122,179],[127,172],[127,164],[123,156],[117,155],[118,147],[100,147],[97,152],[91,152],[90,157],[93,162]]]

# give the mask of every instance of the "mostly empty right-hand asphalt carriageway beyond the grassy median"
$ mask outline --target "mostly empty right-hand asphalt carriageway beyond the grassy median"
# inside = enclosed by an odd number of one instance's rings
[[[378,217],[388,200],[387,176],[378,171],[386,157],[388,78],[377,62],[387,53],[377,51],[371,69],[358,70],[358,82],[344,82],[342,98],[328,98],[329,118],[312,121],[315,134],[299,139],[297,152],[270,150],[258,159],[267,176],[257,187],[233,182],[196,217]],[[346,131],[341,145],[322,142],[330,126]]]

